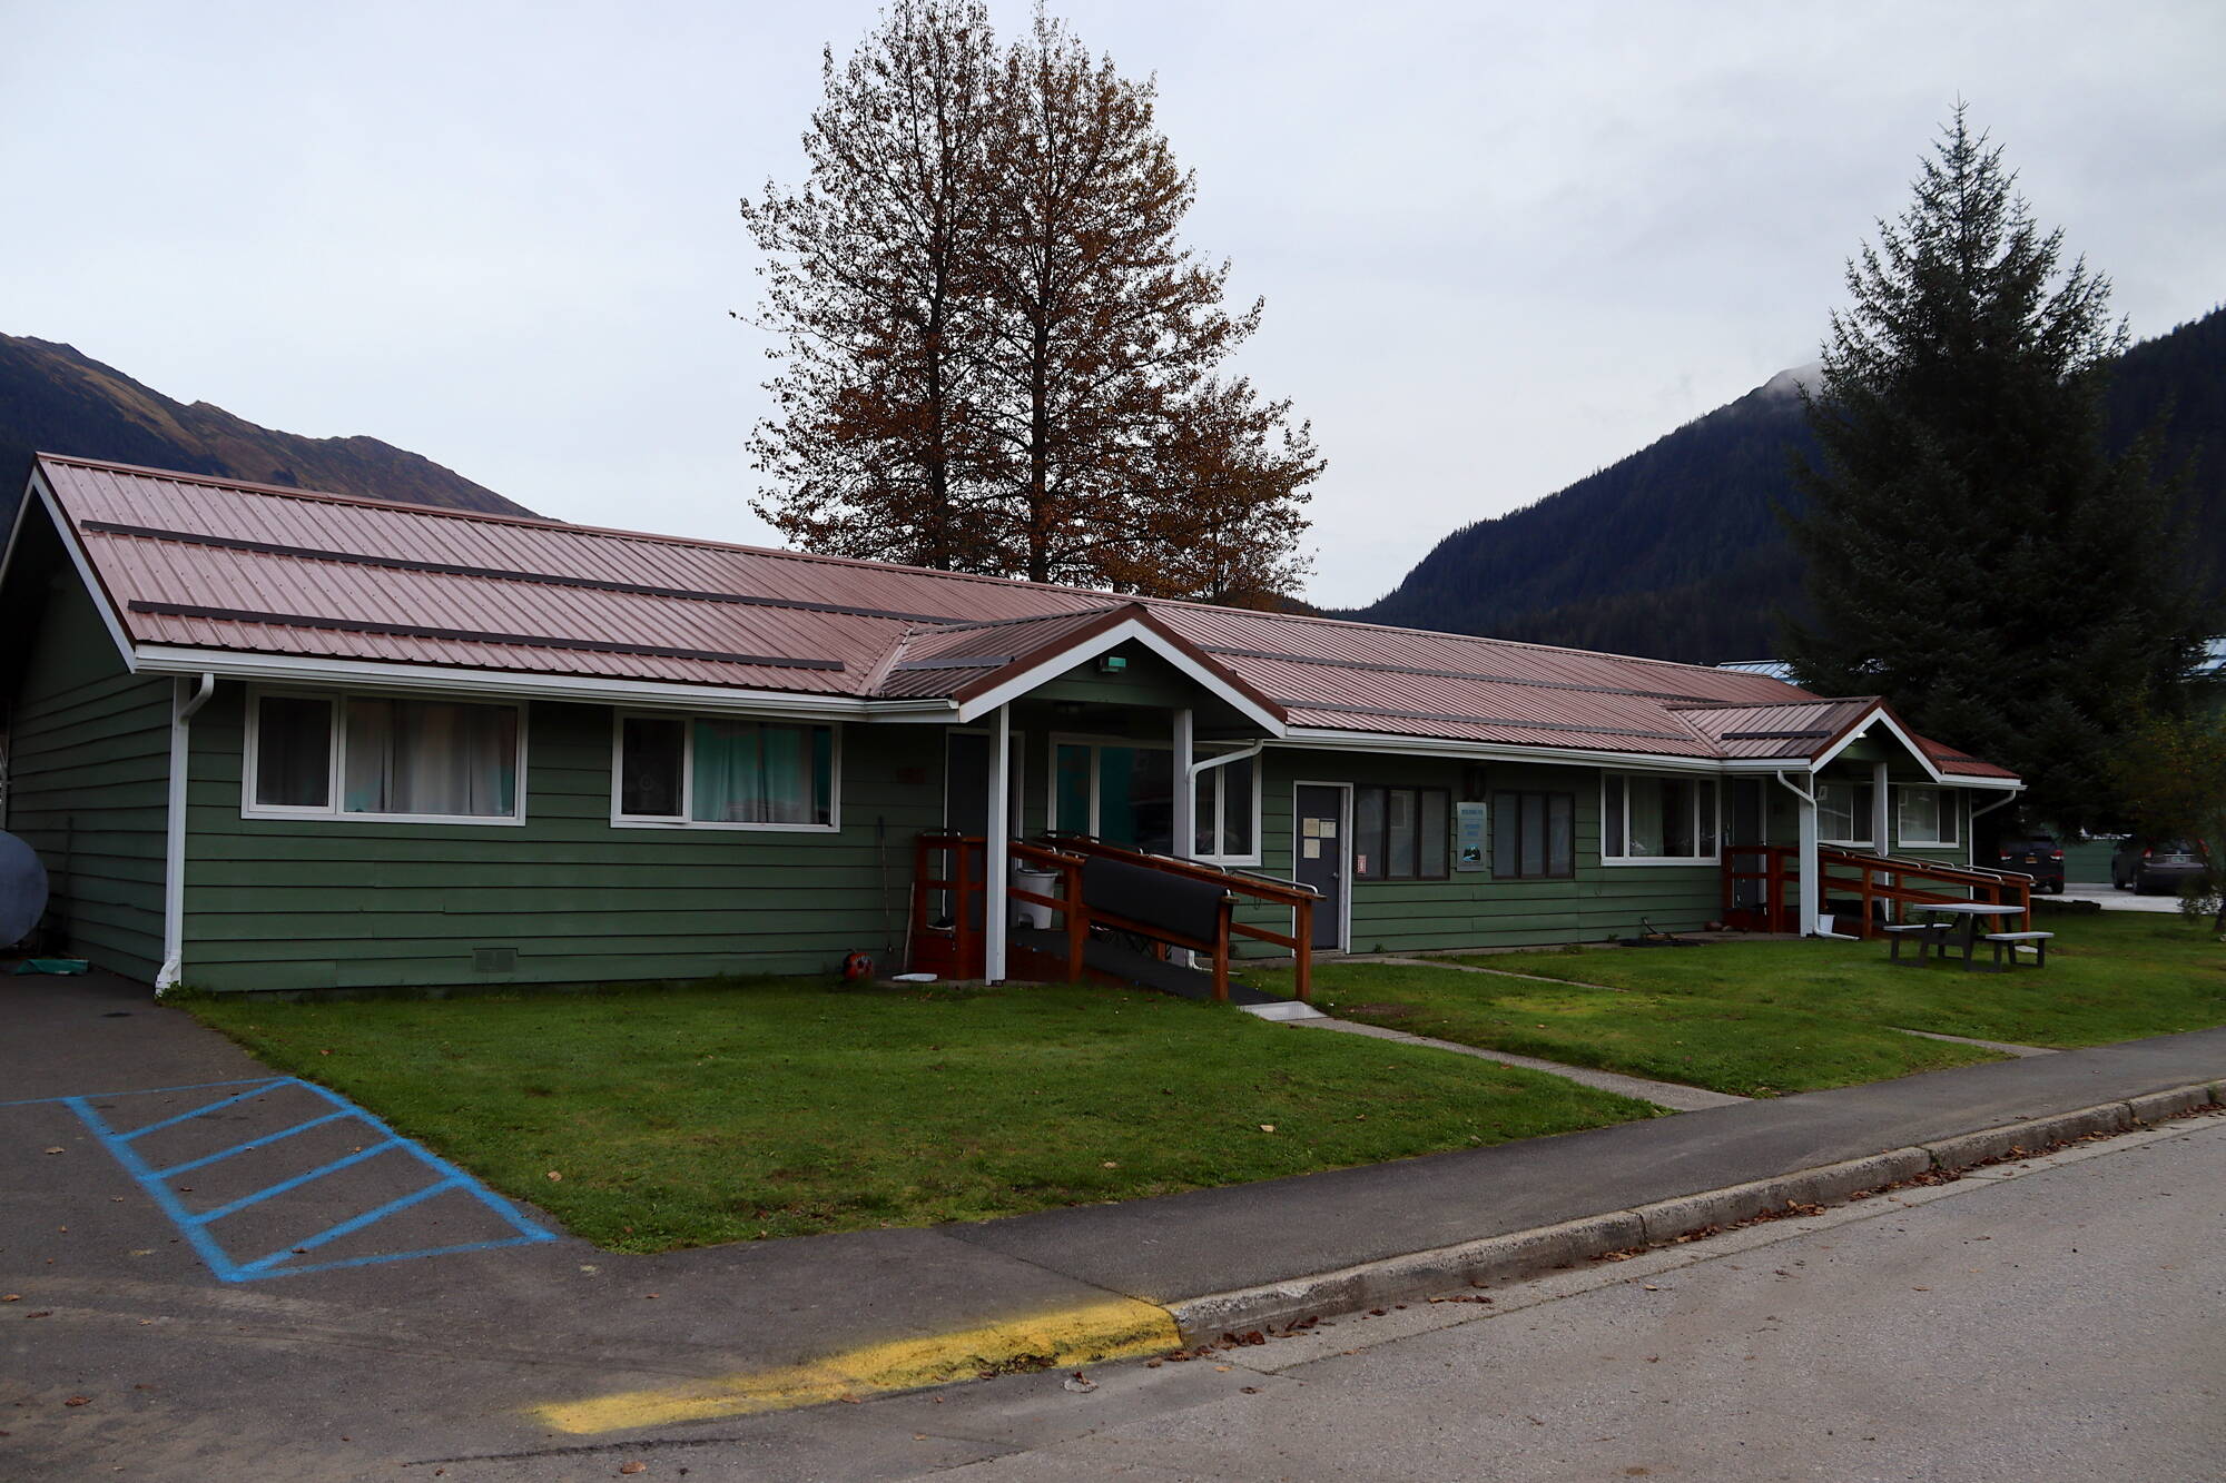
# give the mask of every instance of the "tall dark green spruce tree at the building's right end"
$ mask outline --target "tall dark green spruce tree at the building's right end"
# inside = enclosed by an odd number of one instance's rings
[[[2110,753],[2179,706],[2199,601],[2148,439],[2104,445],[2126,345],[2110,281],[2043,234],[1957,107],[1914,200],[1848,265],[1801,468],[1812,621],[1787,657],[1825,695],[1885,695],[2017,770],[2030,817],[2117,813]]]

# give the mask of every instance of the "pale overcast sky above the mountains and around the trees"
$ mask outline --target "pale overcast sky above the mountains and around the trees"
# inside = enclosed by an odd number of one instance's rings
[[[1957,96],[2137,336],[2226,301],[2226,7],[1064,0],[1313,421],[1318,603],[1816,356]],[[1026,22],[997,0],[1004,31]],[[735,200],[870,0],[0,0],[0,332],[543,514],[772,543]]]

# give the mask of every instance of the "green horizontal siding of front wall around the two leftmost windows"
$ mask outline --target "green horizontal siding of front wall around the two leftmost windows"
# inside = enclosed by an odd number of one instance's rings
[[[528,713],[525,824],[249,819],[243,699],[227,684],[200,713],[189,768],[185,978],[214,991],[810,973],[853,949],[886,960],[904,937],[913,839],[942,824],[939,766],[924,786],[897,782],[922,766],[922,735],[846,726],[839,831],[614,828],[612,713],[554,701]],[[514,946],[516,969],[474,971],[474,946]]]

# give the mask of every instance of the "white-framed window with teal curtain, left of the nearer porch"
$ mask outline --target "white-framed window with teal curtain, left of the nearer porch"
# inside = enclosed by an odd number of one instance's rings
[[[835,828],[835,728],[621,717],[617,795],[621,824]]]

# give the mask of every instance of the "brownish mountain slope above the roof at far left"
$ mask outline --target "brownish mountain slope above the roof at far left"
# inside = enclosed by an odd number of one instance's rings
[[[450,510],[532,514],[392,443],[258,428],[205,401],[171,401],[71,345],[0,334],[0,517],[13,519],[33,452]]]

